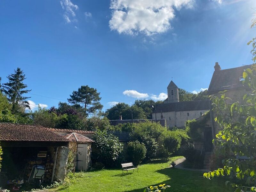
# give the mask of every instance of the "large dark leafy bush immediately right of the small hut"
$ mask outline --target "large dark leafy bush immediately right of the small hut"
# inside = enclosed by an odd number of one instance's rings
[[[95,131],[92,145],[92,161],[100,162],[106,167],[116,166],[116,161],[123,150],[118,138],[107,131]]]

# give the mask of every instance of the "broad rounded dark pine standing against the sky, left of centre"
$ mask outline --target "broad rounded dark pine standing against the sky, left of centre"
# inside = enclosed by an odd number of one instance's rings
[[[70,99],[68,99],[72,104],[83,105],[87,115],[102,109],[103,106],[100,104],[100,100],[100,93],[97,92],[97,89],[88,85],[81,86],[77,91],[73,91]]]

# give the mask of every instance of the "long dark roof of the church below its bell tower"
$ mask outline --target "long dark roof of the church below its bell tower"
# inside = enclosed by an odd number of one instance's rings
[[[153,113],[170,111],[196,111],[209,109],[209,100],[193,100],[175,103],[161,103],[156,105],[156,110],[154,110]]]

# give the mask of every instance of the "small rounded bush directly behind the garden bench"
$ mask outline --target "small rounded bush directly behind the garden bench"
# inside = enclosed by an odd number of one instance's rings
[[[134,166],[138,166],[146,157],[147,149],[144,143],[139,141],[129,142],[127,145],[128,159],[132,161]]]

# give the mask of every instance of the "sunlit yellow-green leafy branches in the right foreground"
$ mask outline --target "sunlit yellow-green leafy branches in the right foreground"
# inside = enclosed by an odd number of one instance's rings
[[[222,128],[214,142],[216,151],[224,157],[224,166],[204,173],[204,177],[211,179],[227,175],[227,184],[230,183],[236,191],[240,191],[243,185],[252,186],[256,191],[256,65],[246,69],[243,77],[244,86],[252,92],[245,94],[242,102],[229,104],[225,92],[220,98],[211,98],[217,113],[215,121]]]

